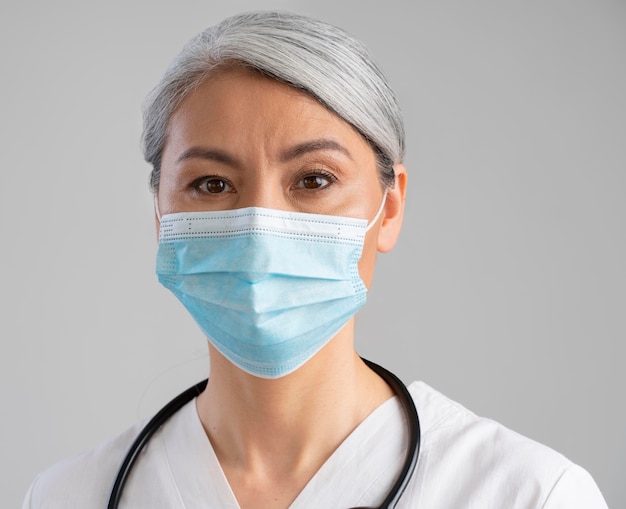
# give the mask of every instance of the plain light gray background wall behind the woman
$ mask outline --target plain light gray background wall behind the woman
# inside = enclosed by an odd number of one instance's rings
[[[563,452],[626,507],[626,3],[5,1],[0,506],[205,374],[154,277],[140,103],[254,8],[365,40],[408,132],[407,217],[358,344]]]

